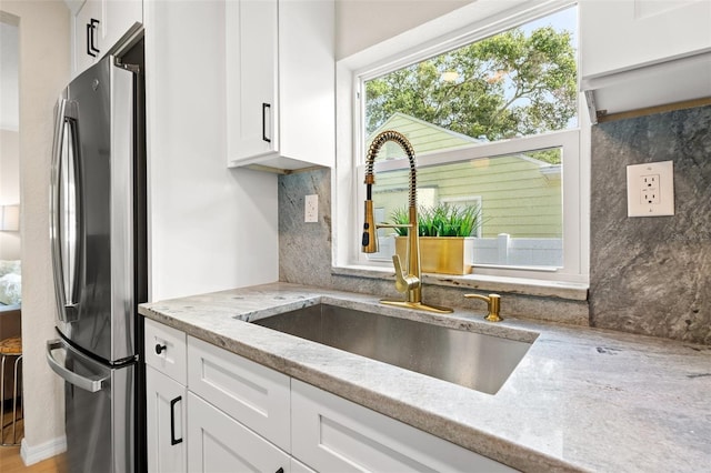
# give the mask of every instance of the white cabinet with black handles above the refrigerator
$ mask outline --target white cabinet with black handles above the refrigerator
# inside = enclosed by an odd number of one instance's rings
[[[72,18],[72,76],[76,77],[108,52],[143,21],[142,0],[87,0],[69,3]]]

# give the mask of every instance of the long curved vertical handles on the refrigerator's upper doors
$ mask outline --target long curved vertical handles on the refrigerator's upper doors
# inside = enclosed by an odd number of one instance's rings
[[[81,193],[77,105],[60,99],[54,119],[50,184],[50,240],[54,289],[62,322],[78,318],[80,299]],[[67,133],[69,131],[69,133]],[[67,151],[67,157],[63,150]],[[66,261],[69,260],[69,261]],[[63,308],[63,309],[61,309]]]

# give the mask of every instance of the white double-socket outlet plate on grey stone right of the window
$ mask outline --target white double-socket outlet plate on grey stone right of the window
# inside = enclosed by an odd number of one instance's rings
[[[628,217],[674,214],[674,163],[650,162],[627,167]]]

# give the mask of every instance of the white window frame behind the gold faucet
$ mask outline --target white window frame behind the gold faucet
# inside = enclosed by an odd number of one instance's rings
[[[480,2],[455,10],[407,33],[371,47],[337,63],[337,165],[332,179],[333,245],[336,268],[392,271],[391,264],[367,262],[360,253],[364,160],[362,123],[364,107],[359,98],[363,82],[395,69],[481,40],[573,6],[574,1],[485,2],[490,9],[482,17]],[[503,10],[503,4],[508,7]],[[495,6],[495,7],[493,7]],[[511,8],[514,6],[513,8]],[[491,9],[499,8],[501,11]],[[485,9],[483,9],[485,10]],[[458,26],[454,28],[454,26]],[[413,46],[415,44],[415,46]],[[580,70],[580,64],[579,64]],[[562,269],[475,266],[464,279],[480,275],[525,280],[588,283],[590,248],[590,122],[584,99],[578,100],[579,128],[513,140],[475,144],[467,149],[444,150],[418,155],[418,165],[505,155],[537,149],[563,149],[563,262]],[[398,169],[404,160],[375,164],[378,171]],[[353,170],[357,172],[354,173]],[[356,174],[356,177],[353,175]],[[378,185],[375,183],[375,185]],[[448,276],[451,279],[451,276]]]

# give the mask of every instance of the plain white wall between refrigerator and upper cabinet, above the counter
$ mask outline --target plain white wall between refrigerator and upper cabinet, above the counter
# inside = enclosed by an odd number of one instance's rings
[[[224,6],[144,3],[152,301],[279,278],[277,177],[227,168]]]

